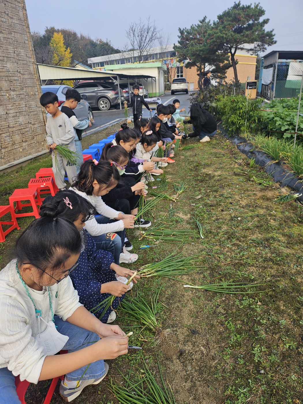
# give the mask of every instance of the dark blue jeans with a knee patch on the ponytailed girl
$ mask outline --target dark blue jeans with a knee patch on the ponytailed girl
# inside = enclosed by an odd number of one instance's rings
[[[109,219],[105,216],[97,216],[95,217],[97,223],[104,224],[104,223],[113,223],[115,219]],[[95,243],[97,250],[106,250],[112,253],[114,257],[114,261],[116,264],[119,265],[120,262],[120,252],[124,247],[124,238],[125,238],[125,229],[122,231],[115,232],[116,236],[113,236],[114,233],[105,233],[100,234],[100,236],[92,236]]]

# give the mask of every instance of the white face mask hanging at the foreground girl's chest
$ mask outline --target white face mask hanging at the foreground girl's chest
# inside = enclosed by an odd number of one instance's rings
[[[57,352],[61,351],[64,345],[67,343],[69,337],[67,335],[62,335],[57,331],[55,323],[49,321],[48,323],[43,320],[43,318],[38,316],[38,327],[40,329],[40,320],[47,324],[46,330],[39,333],[35,337],[35,341],[38,342],[39,347],[43,347],[44,355],[55,355]]]

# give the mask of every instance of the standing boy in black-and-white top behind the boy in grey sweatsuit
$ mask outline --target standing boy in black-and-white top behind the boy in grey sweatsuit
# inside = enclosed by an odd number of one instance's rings
[[[78,105],[78,102],[81,101],[81,95],[74,88],[69,88],[65,94],[65,103],[61,107],[61,112],[67,115],[72,126],[75,129],[75,146],[78,154],[78,162],[77,162],[77,175],[80,171],[80,166],[83,163],[83,154],[82,154],[82,132],[83,129],[92,126],[91,122],[88,119],[84,119],[84,121],[78,121],[76,114],[74,113],[74,109]]]

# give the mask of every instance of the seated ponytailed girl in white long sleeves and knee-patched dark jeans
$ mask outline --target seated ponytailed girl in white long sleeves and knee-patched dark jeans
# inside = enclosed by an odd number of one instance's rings
[[[93,237],[97,250],[112,253],[116,264],[133,263],[137,254],[130,254],[124,247],[125,229],[133,229],[134,215],[125,215],[105,205],[102,196],[116,187],[120,175],[115,165],[108,161],[87,160],[81,165],[78,178],[69,188],[95,206],[100,216],[85,222],[85,229]]]

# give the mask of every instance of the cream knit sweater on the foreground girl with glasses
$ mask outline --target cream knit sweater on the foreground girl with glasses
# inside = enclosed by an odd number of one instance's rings
[[[49,297],[53,313],[64,321],[81,306],[72,280],[67,276],[60,283],[45,288],[43,295],[28,288],[41,317],[46,322],[52,320]],[[13,259],[0,272],[0,368],[8,368],[20,380],[38,383],[45,359],[42,346],[35,337],[39,334],[35,307],[27,296],[25,288],[16,271]],[[40,321],[41,332],[46,324]]]

